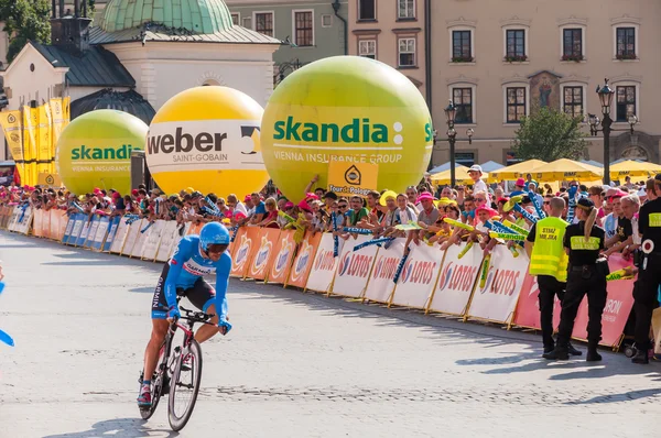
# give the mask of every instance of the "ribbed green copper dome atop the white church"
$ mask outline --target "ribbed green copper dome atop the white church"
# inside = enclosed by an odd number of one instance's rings
[[[106,32],[118,32],[144,23],[183,28],[196,34],[223,32],[232,26],[223,0],[110,0],[99,26]]]

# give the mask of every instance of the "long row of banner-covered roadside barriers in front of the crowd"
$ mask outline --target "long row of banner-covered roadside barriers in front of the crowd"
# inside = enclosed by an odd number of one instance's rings
[[[62,210],[30,207],[0,208],[0,228],[21,234],[59,241],[152,262],[166,262],[182,237],[198,233],[203,223],[127,217],[67,216]],[[479,245],[465,243],[441,251],[438,245],[413,245],[403,269],[393,278],[404,254],[405,239],[381,245],[369,244],[369,236],[339,240],[334,256],[329,233],[307,232],[296,244],[294,230],[240,228],[228,251],[232,256],[230,275],[242,281],[282,284],[303,291],[337,295],[364,302],[401,306],[442,314],[462,320],[496,322],[511,327],[540,329],[539,288],[528,274],[528,256],[514,258],[497,245],[485,258]],[[619,254],[609,258],[610,271],[630,265]],[[608,282],[608,300],[603,316],[602,344],[619,348],[622,331],[633,306],[635,280]],[[554,326],[560,320],[560,303],[554,309]],[[578,309],[573,337],[587,337],[586,299]]]

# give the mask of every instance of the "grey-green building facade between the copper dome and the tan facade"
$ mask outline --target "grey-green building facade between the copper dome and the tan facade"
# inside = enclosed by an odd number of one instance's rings
[[[274,83],[296,68],[345,55],[348,0],[228,0],[232,21],[290,44],[273,55]]]

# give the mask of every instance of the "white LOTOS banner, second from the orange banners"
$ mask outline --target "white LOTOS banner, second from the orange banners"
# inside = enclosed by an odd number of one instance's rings
[[[333,238],[333,236],[330,236]],[[335,295],[362,297],[372,272],[379,247],[376,244],[354,251],[354,247],[371,240],[371,236],[349,237],[339,253],[339,262],[333,280],[332,293]],[[330,239],[333,241],[333,239]],[[308,282],[310,283],[310,282]]]

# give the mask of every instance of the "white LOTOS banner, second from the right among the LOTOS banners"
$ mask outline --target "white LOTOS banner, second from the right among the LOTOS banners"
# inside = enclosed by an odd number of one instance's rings
[[[462,259],[466,243],[453,244],[445,252],[445,261],[429,309],[442,314],[464,316],[473,287],[479,276],[483,250],[474,244]]]

